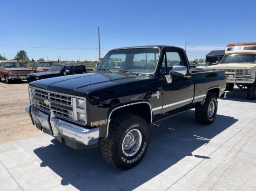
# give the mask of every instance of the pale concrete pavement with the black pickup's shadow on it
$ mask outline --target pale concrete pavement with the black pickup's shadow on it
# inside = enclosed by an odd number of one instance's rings
[[[209,126],[193,110],[151,125],[148,152],[128,171],[100,147],[74,150],[47,134],[2,144],[0,190],[255,191],[256,101],[238,89],[218,101]]]

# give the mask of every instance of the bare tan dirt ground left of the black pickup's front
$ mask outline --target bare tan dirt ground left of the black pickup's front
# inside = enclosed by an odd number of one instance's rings
[[[29,105],[28,83],[0,81],[0,144],[33,137],[42,132],[25,112]]]

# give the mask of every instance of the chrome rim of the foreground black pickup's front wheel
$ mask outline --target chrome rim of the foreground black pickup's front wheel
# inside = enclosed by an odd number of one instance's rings
[[[133,129],[125,135],[122,143],[122,151],[126,156],[135,155],[141,146],[141,132],[137,129]]]

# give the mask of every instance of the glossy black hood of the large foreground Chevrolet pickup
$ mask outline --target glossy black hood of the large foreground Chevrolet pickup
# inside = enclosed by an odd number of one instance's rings
[[[29,85],[67,95],[84,97],[94,89],[102,89],[110,85],[121,85],[129,81],[136,83],[145,78],[148,77],[127,75],[125,73],[93,72],[37,80],[29,83]]]

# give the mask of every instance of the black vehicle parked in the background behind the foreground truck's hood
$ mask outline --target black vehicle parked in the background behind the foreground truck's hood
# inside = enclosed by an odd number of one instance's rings
[[[33,82],[35,80],[50,77],[89,73],[92,71],[93,69],[85,68],[84,64],[82,63],[53,64],[46,72],[27,74],[27,82]]]

